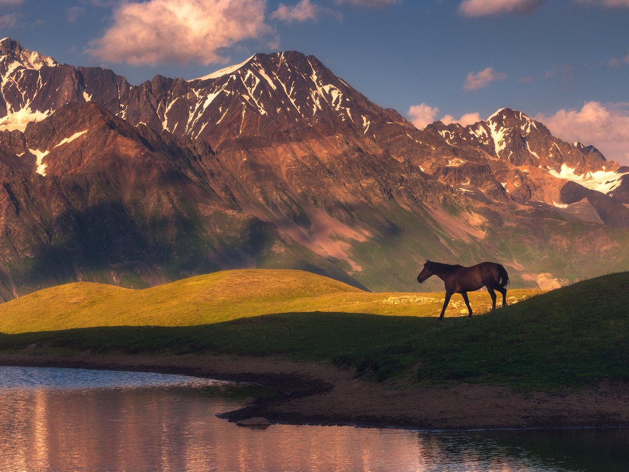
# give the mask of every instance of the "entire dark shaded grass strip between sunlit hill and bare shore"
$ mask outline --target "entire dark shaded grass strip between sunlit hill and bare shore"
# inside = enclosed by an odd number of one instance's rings
[[[320,359],[384,380],[490,381],[527,390],[629,379],[627,274],[574,284],[473,318],[276,313],[198,326],[117,326],[0,334],[0,351]],[[604,288],[604,290],[601,290]],[[609,296],[610,293],[615,296]],[[435,313],[436,315],[437,313]],[[412,374],[411,374],[412,375]]]

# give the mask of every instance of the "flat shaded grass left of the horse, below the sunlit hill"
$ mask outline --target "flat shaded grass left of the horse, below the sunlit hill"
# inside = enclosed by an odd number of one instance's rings
[[[454,318],[452,318],[454,320]],[[38,347],[91,352],[221,352],[330,357],[419,335],[437,318],[370,313],[276,313],[196,326],[113,326],[0,334],[0,350]]]

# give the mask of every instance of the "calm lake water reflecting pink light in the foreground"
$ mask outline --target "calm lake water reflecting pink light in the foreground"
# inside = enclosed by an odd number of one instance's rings
[[[252,385],[0,367],[0,471],[629,470],[628,430],[413,432],[218,419]]]

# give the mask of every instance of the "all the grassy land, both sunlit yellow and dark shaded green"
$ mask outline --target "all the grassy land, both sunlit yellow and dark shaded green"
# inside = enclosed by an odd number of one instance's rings
[[[584,387],[629,379],[628,286],[629,273],[610,274],[474,318],[452,316],[456,295],[439,322],[440,293],[367,293],[301,271],[227,271],[143,290],[69,284],[0,305],[0,349],[273,355],[333,360],[399,385]],[[489,301],[484,291],[470,298],[473,308]]]

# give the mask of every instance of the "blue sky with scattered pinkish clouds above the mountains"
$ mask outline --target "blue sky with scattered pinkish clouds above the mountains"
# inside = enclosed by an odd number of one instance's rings
[[[131,84],[315,55],[422,128],[520,110],[629,165],[629,0],[0,0],[0,37]]]

